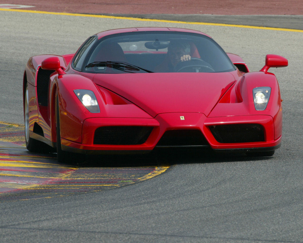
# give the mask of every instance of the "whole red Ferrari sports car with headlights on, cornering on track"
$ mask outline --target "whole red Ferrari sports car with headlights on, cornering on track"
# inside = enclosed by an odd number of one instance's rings
[[[31,57],[23,78],[26,147],[69,155],[208,147],[271,156],[282,106],[269,54],[258,72],[208,35],[179,28],[114,29],[75,54]],[[263,65],[262,65],[263,66]]]

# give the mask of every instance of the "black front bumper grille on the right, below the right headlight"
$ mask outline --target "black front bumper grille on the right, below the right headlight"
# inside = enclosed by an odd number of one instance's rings
[[[230,124],[209,126],[220,143],[263,142],[264,130],[260,124]]]

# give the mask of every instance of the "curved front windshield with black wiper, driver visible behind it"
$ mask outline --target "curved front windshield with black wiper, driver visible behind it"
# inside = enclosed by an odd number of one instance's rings
[[[90,49],[82,68],[83,72],[111,74],[234,70],[224,50],[213,39],[172,31],[105,36]]]

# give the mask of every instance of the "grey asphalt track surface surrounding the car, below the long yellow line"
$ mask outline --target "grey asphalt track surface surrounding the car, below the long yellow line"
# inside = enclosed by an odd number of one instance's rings
[[[0,121],[12,123],[23,122],[21,82],[27,59],[72,53],[88,36],[105,29],[198,29],[225,51],[242,56],[251,71],[263,67],[268,53],[289,60],[288,67],[270,70],[280,83],[284,114],[282,146],[273,157],[173,153],[159,158],[170,169],[141,183],[2,202],[1,242],[303,242],[303,32],[7,11],[0,12],[0,20],[5,104]]]

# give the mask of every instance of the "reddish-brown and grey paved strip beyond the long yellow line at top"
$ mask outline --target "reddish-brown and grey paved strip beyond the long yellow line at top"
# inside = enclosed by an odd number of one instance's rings
[[[3,3],[2,3],[3,2]],[[26,1],[35,11],[303,29],[301,0]],[[25,4],[22,0],[8,3]],[[1,7],[1,6],[0,6]],[[20,8],[25,9],[25,8]]]

